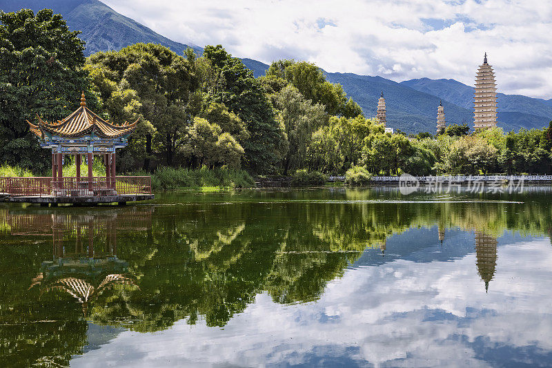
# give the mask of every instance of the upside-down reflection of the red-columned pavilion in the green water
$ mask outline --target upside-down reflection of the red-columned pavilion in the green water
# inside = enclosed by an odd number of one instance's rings
[[[10,213],[8,223],[12,235],[52,236],[52,260],[42,262],[29,289],[39,287],[41,295],[68,293],[86,316],[88,304],[103,291],[114,284],[134,284],[126,275],[127,262],[117,258],[117,230],[151,229],[151,210]]]

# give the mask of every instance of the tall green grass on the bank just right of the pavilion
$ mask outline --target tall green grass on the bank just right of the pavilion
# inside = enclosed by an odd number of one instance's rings
[[[150,175],[154,191],[173,191],[176,189],[219,191],[222,189],[255,187],[255,180],[246,171],[231,168],[160,167],[153,173],[136,171],[130,175]]]

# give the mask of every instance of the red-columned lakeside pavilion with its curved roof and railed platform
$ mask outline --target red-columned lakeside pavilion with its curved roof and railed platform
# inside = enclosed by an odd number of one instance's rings
[[[0,178],[0,192],[11,202],[41,204],[98,203],[148,200],[150,177],[118,177],[115,172],[115,151],[128,144],[137,122],[110,123],[86,107],[84,93],[74,113],[57,122],[37,124],[27,121],[30,131],[39,138],[42,148],[52,151],[52,177]],[[74,156],[76,177],[63,177],[63,158]],[[92,173],[94,156],[103,157],[105,177]],[[81,163],[88,165],[88,175],[81,177]]]

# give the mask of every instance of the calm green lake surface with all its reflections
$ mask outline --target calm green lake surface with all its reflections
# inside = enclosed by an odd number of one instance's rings
[[[0,365],[552,365],[552,192],[0,205]]]

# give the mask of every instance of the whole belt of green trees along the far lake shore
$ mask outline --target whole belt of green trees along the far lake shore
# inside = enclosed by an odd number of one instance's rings
[[[110,122],[140,117],[119,171],[158,166],[243,168],[253,175],[298,170],[342,175],[362,166],[373,175],[411,173],[550,173],[552,125],[504,134],[391,135],[342,86],[306,61],[273,62],[253,77],[222,46],[177,55],[152,43],[83,55],[79,32],[59,14],[0,14],[0,163],[46,173],[49,153],[26,119],[57,121],[88,106]]]

